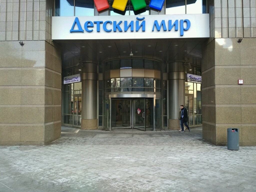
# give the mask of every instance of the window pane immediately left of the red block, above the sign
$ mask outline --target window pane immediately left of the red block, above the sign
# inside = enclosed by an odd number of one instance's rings
[[[76,0],[75,1],[76,16],[94,16],[93,0]]]

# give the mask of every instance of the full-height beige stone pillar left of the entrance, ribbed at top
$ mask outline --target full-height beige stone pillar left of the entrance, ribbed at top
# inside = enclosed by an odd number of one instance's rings
[[[53,9],[50,0],[1,1],[0,145],[44,145],[60,137],[61,51],[51,41]]]

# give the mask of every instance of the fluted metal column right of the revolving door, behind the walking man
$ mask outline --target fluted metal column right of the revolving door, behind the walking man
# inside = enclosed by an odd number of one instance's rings
[[[179,129],[179,108],[185,102],[184,62],[169,63],[168,90],[168,129]]]

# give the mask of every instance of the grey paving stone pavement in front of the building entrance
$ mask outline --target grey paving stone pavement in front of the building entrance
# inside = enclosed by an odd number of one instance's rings
[[[202,139],[202,127],[80,130],[45,146],[0,146],[1,192],[256,191],[256,147]]]

